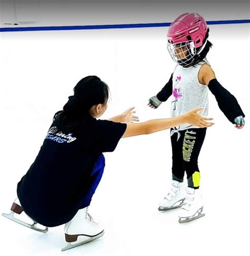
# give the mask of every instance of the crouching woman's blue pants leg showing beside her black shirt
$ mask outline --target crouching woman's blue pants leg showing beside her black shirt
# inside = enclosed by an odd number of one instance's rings
[[[84,193],[82,198],[82,204],[79,209],[85,208],[90,205],[91,199],[97,189],[99,182],[102,178],[102,174],[105,167],[105,158],[103,154],[99,156],[97,161],[95,161],[93,170],[86,184],[84,184]]]

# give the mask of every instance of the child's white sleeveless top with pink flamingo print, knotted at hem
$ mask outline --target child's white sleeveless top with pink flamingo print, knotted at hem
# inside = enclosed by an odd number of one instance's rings
[[[171,116],[179,116],[196,107],[204,107],[199,113],[208,114],[208,87],[199,83],[198,73],[203,64],[199,63],[195,67],[184,68],[177,65],[172,77],[173,92],[171,96]],[[175,132],[199,128],[198,126],[183,124],[175,127],[171,135]],[[178,134],[179,135],[179,134]],[[178,136],[179,138],[179,136]]]

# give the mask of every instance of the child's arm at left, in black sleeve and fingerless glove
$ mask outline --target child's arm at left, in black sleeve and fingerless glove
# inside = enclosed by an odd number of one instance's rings
[[[171,75],[168,83],[161,89],[161,91],[156,95],[149,99],[148,106],[151,108],[157,108],[160,106],[162,102],[166,102],[166,100],[171,96],[172,94],[172,77]]]

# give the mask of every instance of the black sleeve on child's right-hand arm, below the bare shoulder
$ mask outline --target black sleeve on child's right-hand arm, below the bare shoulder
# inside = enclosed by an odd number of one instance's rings
[[[242,115],[245,117],[237,99],[234,95],[230,94],[222,85],[219,84],[217,79],[210,80],[208,88],[214,94],[220,110],[224,113],[227,119],[234,124],[234,119]]]

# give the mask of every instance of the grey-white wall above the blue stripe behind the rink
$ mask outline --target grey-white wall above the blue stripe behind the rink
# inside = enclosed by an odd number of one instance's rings
[[[249,1],[81,1],[1,0],[1,26],[101,25],[172,22],[185,12],[197,12],[207,21],[249,19]]]

